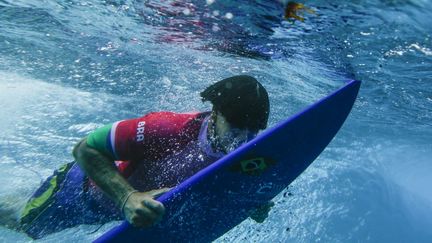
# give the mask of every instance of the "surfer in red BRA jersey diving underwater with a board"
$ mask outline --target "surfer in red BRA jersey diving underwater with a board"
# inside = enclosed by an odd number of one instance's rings
[[[76,162],[46,179],[8,227],[38,239],[79,224],[158,223],[165,208],[155,197],[267,127],[268,93],[251,76],[223,79],[200,94],[212,111],[151,112],[90,133],[73,149]],[[272,205],[251,218],[264,221]]]

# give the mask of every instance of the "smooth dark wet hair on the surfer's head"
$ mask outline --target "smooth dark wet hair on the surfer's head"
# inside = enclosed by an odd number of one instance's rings
[[[258,131],[267,127],[270,102],[266,89],[248,75],[223,79],[201,92],[203,101],[210,101],[237,128]]]

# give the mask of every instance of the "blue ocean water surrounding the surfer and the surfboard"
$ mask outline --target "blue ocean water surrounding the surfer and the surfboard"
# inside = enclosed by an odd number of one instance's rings
[[[270,125],[363,81],[342,130],[274,199],[216,242],[430,242],[432,2],[0,0],[0,205],[22,206],[103,124],[205,110],[209,84],[257,77]],[[38,242],[91,241],[116,222]],[[1,242],[28,242],[0,227]]]

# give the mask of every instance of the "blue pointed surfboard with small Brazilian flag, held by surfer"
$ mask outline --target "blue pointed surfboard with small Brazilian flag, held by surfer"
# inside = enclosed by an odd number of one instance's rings
[[[299,176],[330,143],[360,88],[352,80],[199,171],[157,200],[162,222],[138,229],[126,221],[96,242],[211,242],[249,217]]]

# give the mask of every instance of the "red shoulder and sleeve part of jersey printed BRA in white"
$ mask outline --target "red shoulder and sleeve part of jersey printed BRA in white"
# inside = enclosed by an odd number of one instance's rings
[[[160,160],[198,139],[209,112],[152,112],[112,125],[110,145],[117,160]]]

